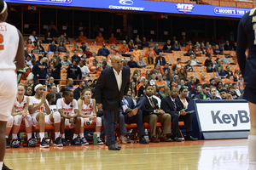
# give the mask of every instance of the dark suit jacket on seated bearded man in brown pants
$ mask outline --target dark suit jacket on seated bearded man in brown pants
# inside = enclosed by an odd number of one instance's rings
[[[141,101],[141,100],[143,100],[143,101]],[[152,108],[150,101],[148,100],[148,97],[145,94],[143,95],[143,97],[140,97],[139,99],[137,99],[138,103],[142,102],[141,110],[143,111],[143,119],[145,116],[153,114],[154,110],[159,109],[157,99],[154,99],[152,97],[152,100],[155,105],[154,109]]]

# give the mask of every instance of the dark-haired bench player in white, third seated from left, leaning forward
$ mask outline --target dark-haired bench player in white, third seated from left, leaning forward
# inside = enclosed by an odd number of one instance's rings
[[[78,140],[78,134],[81,127],[81,118],[79,117],[79,108],[78,102],[76,99],[73,99],[73,91],[65,90],[63,92],[64,98],[57,100],[57,111],[61,114],[61,142],[63,146],[67,145],[65,139],[65,127],[73,127],[73,140],[71,144],[73,145],[81,145]],[[72,114],[74,111],[74,114]]]

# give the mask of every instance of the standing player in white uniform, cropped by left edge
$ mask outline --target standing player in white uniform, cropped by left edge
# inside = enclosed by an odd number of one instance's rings
[[[23,37],[15,26],[5,22],[7,16],[7,4],[0,0],[0,169],[9,169],[3,165],[4,133],[17,94],[15,70],[23,69],[25,63]]]

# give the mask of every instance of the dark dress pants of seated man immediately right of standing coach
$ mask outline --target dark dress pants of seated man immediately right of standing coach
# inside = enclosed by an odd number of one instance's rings
[[[137,131],[140,136],[145,135],[145,128],[143,126],[143,112],[141,110],[137,111],[137,115],[129,117],[128,114],[125,115],[125,123],[131,124],[136,123],[137,124]]]

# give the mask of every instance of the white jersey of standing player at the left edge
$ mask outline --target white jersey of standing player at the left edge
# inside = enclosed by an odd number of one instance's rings
[[[14,60],[20,37],[15,26],[0,22],[0,70],[16,70]]]

